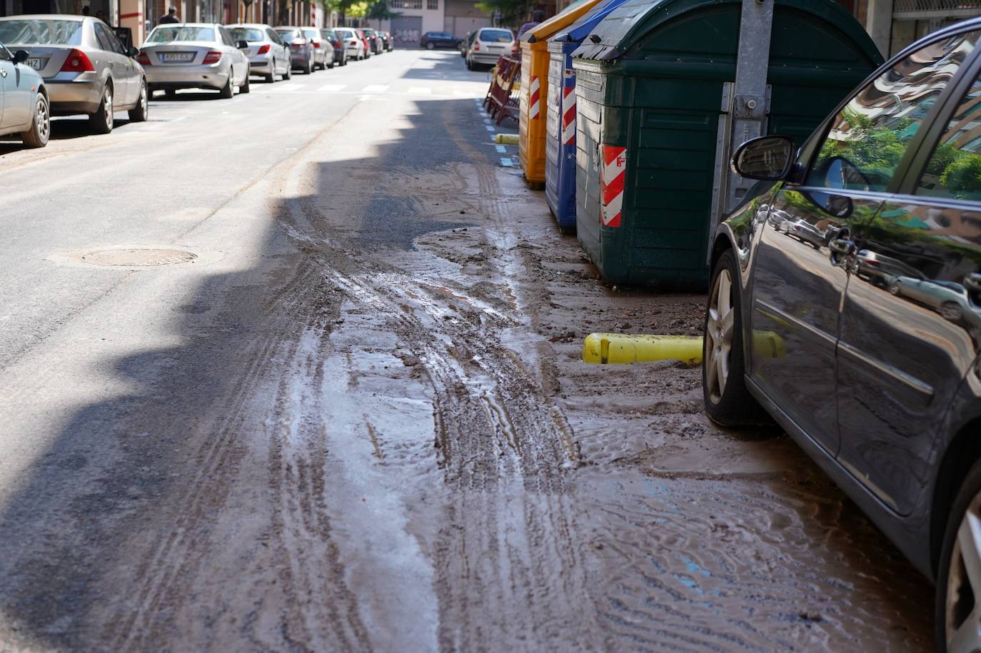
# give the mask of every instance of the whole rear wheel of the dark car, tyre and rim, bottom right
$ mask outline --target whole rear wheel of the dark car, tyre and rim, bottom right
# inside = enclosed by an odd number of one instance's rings
[[[957,491],[944,534],[934,601],[936,650],[981,649],[977,604],[981,601],[981,462]]]

